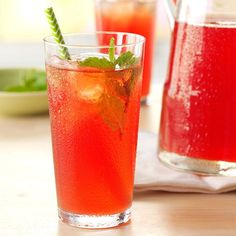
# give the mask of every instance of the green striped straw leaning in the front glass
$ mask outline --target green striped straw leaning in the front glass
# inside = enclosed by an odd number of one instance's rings
[[[45,14],[46,14],[48,23],[50,25],[52,35],[53,35],[55,42],[60,44],[59,52],[60,52],[61,58],[66,59],[66,60],[70,60],[70,54],[69,54],[68,49],[66,47],[61,46],[61,44],[65,44],[65,41],[63,39],[60,27],[57,23],[57,19],[56,19],[55,13],[53,11],[53,8],[49,7],[47,9],[45,9]]]

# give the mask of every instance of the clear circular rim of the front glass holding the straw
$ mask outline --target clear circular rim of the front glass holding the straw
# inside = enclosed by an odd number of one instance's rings
[[[117,32],[117,31],[95,31],[93,33],[66,33],[66,34],[62,34],[63,37],[68,37],[68,36],[91,36],[91,35],[127,35],[127,36],[137,36],[139,38],[138,42],[135,43],[124,43],[124,44],[117,44],[114,47],[118,48],[118,47],[129,47],[129,46],[137,46],[137,45],[142,45],[146,42],[146,38],[140,34],[135,34],[135,33],[129,33],[129,32]],[[53,39],[53,35],[49,35],[43,38],[43,41],[46,45],[52,45],[52,46],[61,46],[61,47],[65,47],[65,48],[99,48],[99,49],[106,49],[109,48],[110,45],[106,44],[106,45],[89,45],[89,44],[61,44],[61,43],[57,43],[54,41]]]

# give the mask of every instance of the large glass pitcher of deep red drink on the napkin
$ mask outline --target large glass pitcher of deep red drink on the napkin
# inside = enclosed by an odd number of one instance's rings
[[[159,158],[182,171],[236,176],[236,1],[166,3],[172,48]]]

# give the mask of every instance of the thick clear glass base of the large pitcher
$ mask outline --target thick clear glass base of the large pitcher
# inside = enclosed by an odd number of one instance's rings
[[[198,175],[236,176],[235,162],[196,159],[167,151],[161,151],[159,159],[168,167],[183,172]]]

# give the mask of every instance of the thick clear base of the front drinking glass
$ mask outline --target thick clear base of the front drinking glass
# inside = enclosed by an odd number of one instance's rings
[[[80,228],[110,228],[126,223],[130,220],[130,208],[114,215],[78,215],[58,209],[58,216],[62,222]]]

